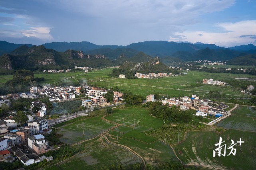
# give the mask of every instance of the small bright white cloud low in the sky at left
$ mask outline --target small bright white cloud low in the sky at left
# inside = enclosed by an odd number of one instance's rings
[[[30,27],[28,30],[20,31],[26,37],[36,37],[44,40],[52,40],[53,37],[50,35],[50,27]]]

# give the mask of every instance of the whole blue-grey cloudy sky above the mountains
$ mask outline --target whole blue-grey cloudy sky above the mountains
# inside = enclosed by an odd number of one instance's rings
[[[256,45],[256,0],[0,0],[0,40]]]

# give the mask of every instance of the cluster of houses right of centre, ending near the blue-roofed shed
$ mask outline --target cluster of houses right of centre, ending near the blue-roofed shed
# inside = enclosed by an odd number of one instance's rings
[[[154,94],[149,94],[147,96],[147,102],[154,102]],[[207,116],[214,115],[215,117],[220,117],[226,113],[224,109],[228,106],[225,104],[218,104],[216,102],[211,102],[210,100],[200,100],[199,96],[192,94],[191,98],[184,96],[182,98],[170,98],[161,100],[164,105],[168,104],[170,107],[175,105],[182,110],[194,109],[196,110],[197,116]]]

